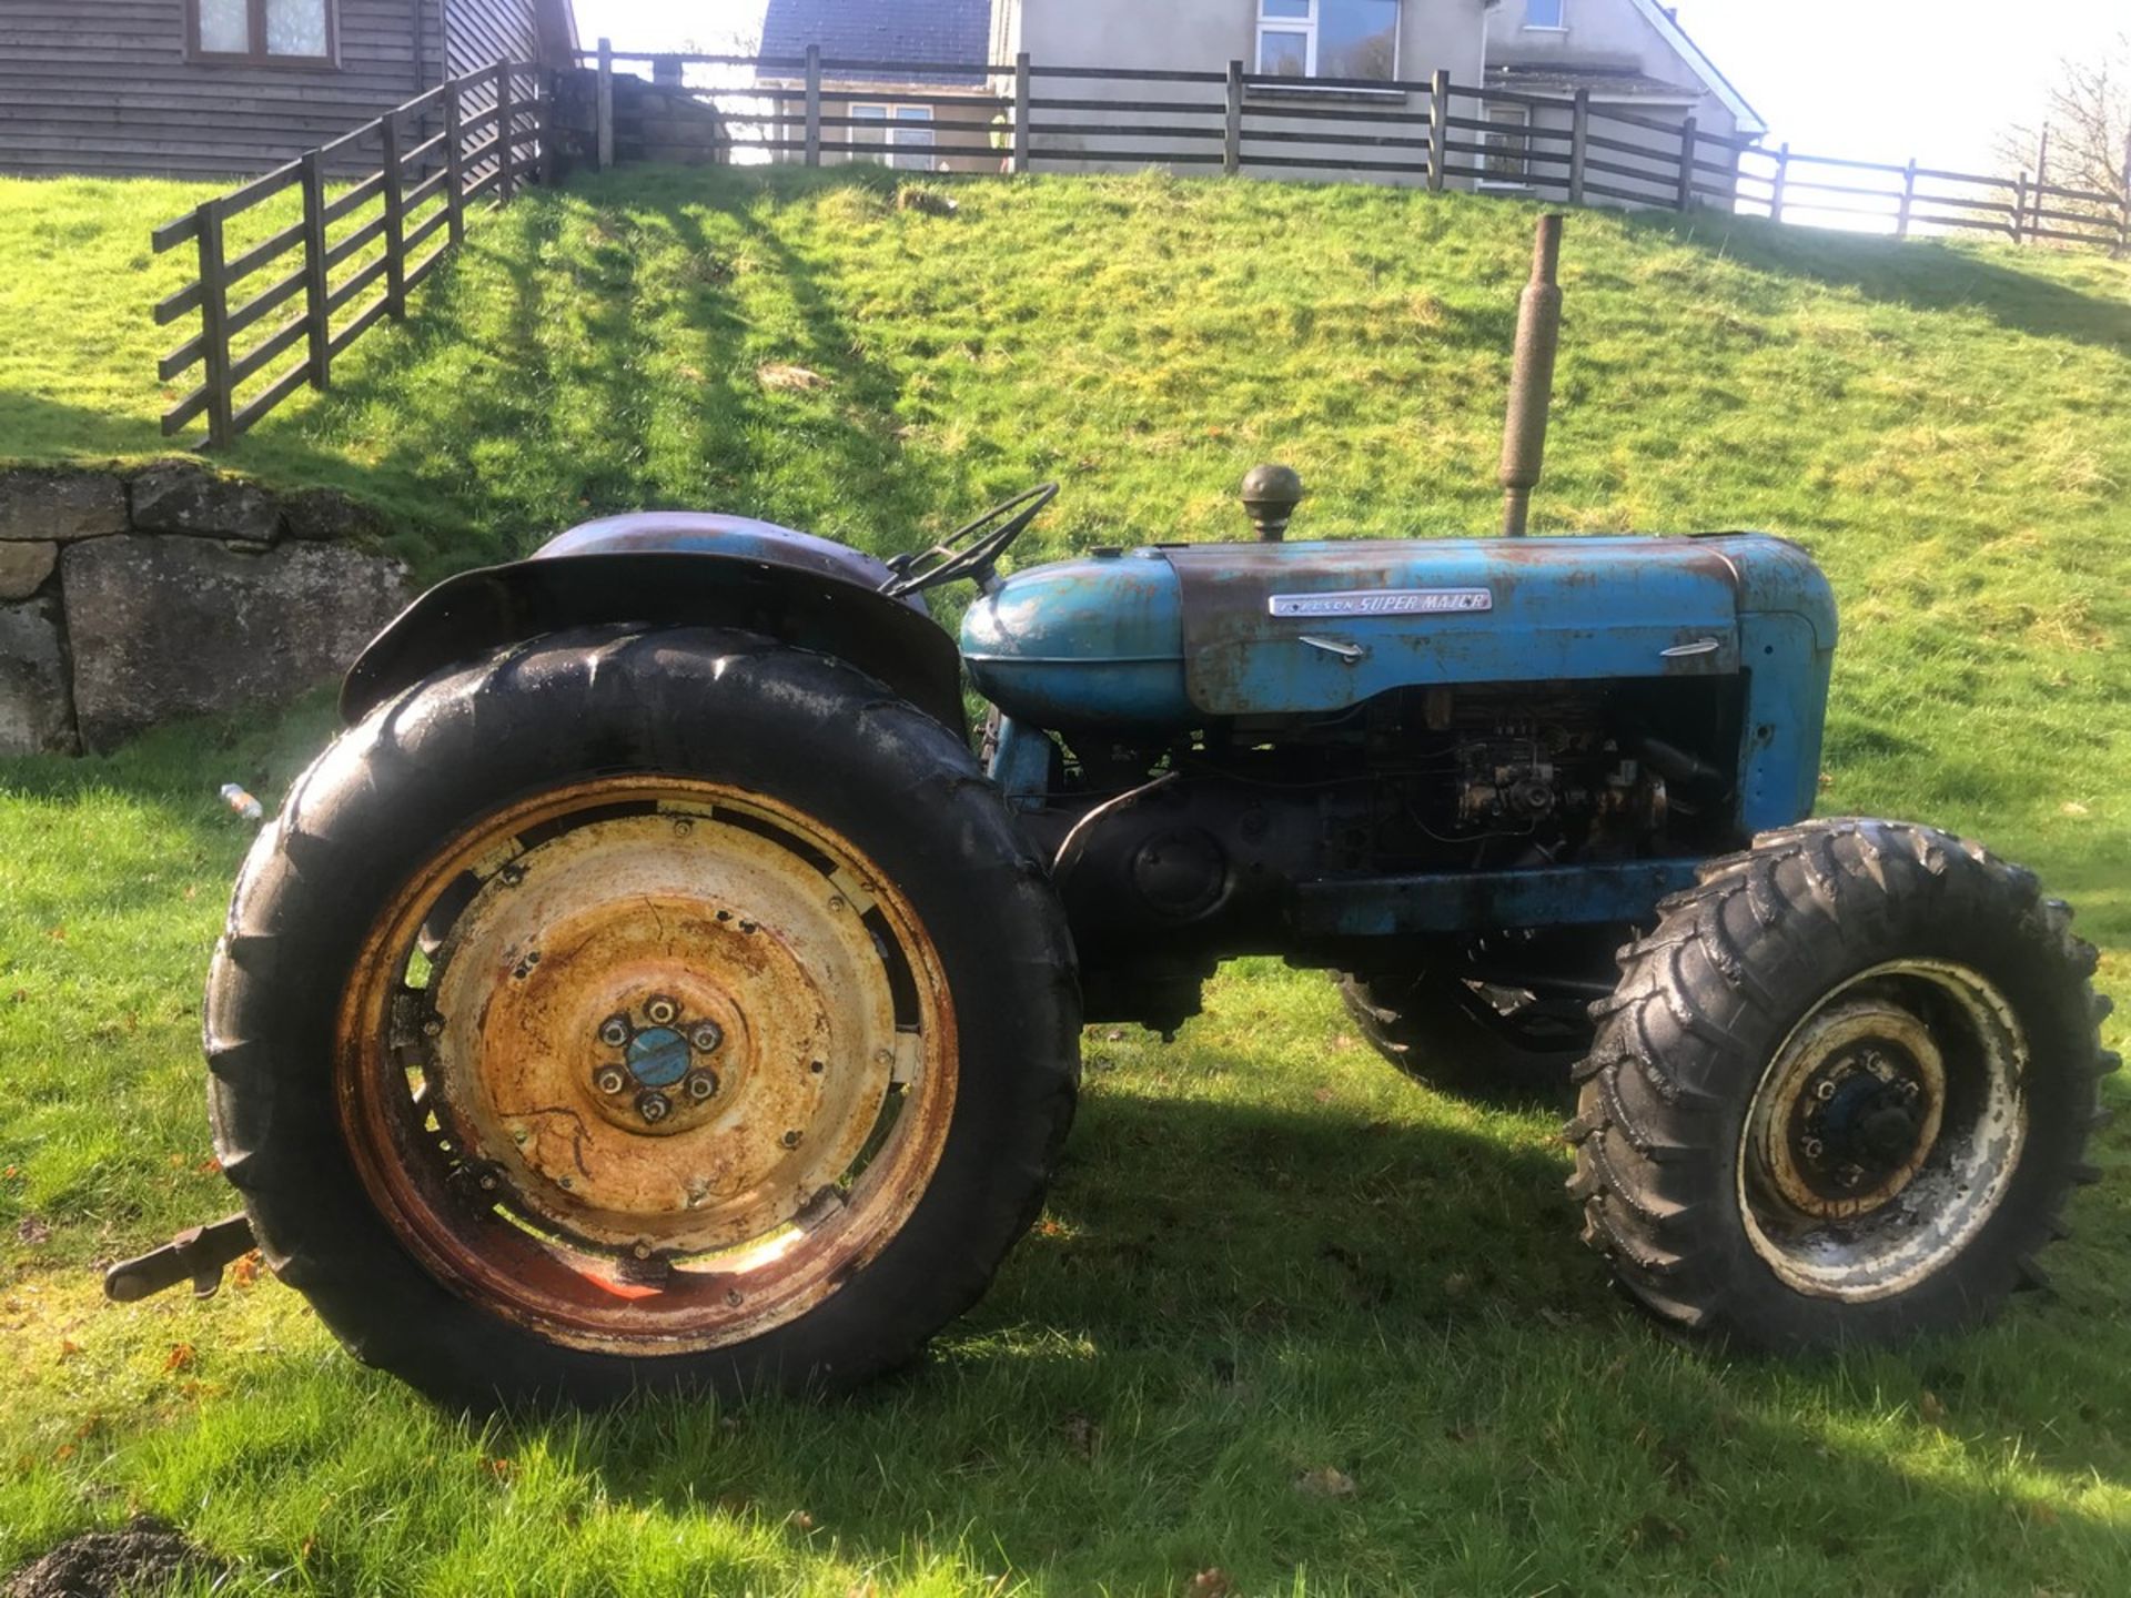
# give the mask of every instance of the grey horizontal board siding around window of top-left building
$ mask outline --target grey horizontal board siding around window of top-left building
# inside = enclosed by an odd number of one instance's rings
[[[188,62],[181,0],[0,0],[0,173],[266,170],[437,83],[437,6],[339,0],[339,68],[298,68]]]

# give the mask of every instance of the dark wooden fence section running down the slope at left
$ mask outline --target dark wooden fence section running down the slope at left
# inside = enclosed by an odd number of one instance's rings
[[[164,384],[200,369],[198,386],[164,411],[164,437],[205,415],[205,437],[188,447],[222,447],[305,384],[326,388],[347,345],[407,313],[407,294],[465,237],[475,200],[503,207],[526,179],[552,177],[550,109],[541,68],[499,62],[156,228],[158,254],[192,243],[200,262],[194,281],[156,305],[160,326],[198,317],[198,332],[156,366]],[[341,177],[367,160],[377,166]],[[290,258],[281,277],[251,283]],[[290,305],[300,309],[269,322]],[[271,371],[288,352],[298,352],[294,364]]]

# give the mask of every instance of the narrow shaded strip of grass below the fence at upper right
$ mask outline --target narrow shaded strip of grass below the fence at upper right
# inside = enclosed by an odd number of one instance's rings
[[[2001,328],[2131,352],[2131,303],[2084,294],[2024,271],[2022,258],[1958,249],[1937,239],[1877,239],[1720,213],[1637,211],[1628,234],[1664,234],[1775,277],[1809,277],[1918,311],[1973,309]]]

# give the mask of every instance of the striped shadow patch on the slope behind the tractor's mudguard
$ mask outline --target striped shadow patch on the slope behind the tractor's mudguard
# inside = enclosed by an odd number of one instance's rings
[[[803,187],[884,205],[872,175]],[[520,234],[471,239],[405,337],[367,343],[328,398],[228,460],[311,473],[352,418],[381,418],[362,426],[377,496],[426,499],[460,528],[422,577],[637,509],[833,524],[874,552],[918,545],[914,528],[953,496],[904,450],[901,381],[867,358],[865,328],[759,219],[754,207],[791,190],[648,170],[531,196],[494,224]],[[349,475],[345,458],[335,467],[328,479]]]

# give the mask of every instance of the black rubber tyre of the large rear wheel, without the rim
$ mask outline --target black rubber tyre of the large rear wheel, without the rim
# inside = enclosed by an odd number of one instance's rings
[[[362,850],[339,835],[349,808],[390,805],[424,769],[424,744],[441,722],[454,722],[465,735],[499,718],[505,697],[541,697],[556,716],[590,722],[603,705],[612,710],[631,695],[663,692],[661,684],[686,673],[701,673],[720,690],[752,688],[788,705],[795,735],[823,733],[823,707],[833,703],[842,718],[835,735],[878,756],[872,769],[908,771],[908,808],[923,810],[938,827],[936,837],[910,848],[927,857],[927,869],[959,874],[967,903],[982,908],[997,986],[1019,995],[1027,1010],[987,1023],[993,1033],[1010,1025],[1019,1044],[1008,1059],[987,1061],[1014,1076],[1010,1104],[993,1106],[1002,1161],[995,1180],[980,1183],[982,1193],[1010,1193],[1010,1212],[985,1212],[974,1204],[953,1236],[936,1227],[938,1236],[921,1249],[927,1289],[910,1295],[923,1304],[914,1302],[908,1312],[889,1304],[869,1327],[869,1347],[863,1353],[846,1349],[833,1368],[810,1366],[803,1351],[797,1366],[780,1353],[750,1353],[784,1327],[742,1344],[739,1353],[631,1359],[560,1351],[475,1310],[420,1272],[362,1200],[332,1110],[330,1012],[341,974],[320,959],[332,940],[322,940],[303,918],[315,912],[305,903],[307,882],[315,895],[367,869]],[[663,769],[688,771],[684,733],[663,731],[641,712],[635,724],[652,748],[635,750],[624,769],[661,769],[661,756],[671,756]],[[569,737],[567,729],[560,737]],[[507,790],[486,795],[486,808],[511,797]],[[375,835],[375,816],[364,825]],[[420,822],[409,818],[409,825]],[[305,989],[330,989],[332,997],[303,999]],[[957,1008],[997,1004],[965,999],[961,991],[955,997]],[[961,737],[844,661],[727,629],[599,626],[526,639],[413,684],[347,729],[298,776],[239,874],[209,972],[202,1031],[215,1148],[245,1200],[266,1263],[313,1300],[360,1359],[471,1406],[486,1406],[497,1396],[543,1393],[601,1404],[641,1387],[671,1387],[678,1379],[722,1393],[763,1381],[848,1385],[908,1361],[938,1325],[985,1293],[1006,1249],[1034,1223],[1078,1093],[1072,937],[1048,871]],[[965,1038],[970,1031],[965,1023]],[[991,1040],[993,1053],[1006,1053],[997,1042]],[[963,1063],[970,1065],[967,1053]],[[910,1232],[906,1225],[891,1246]],[[422,1310],[407,1312],[394,1302],[381,1312],[379,1304],[394,1293],[418,1291],[407,1272],[433,1289]],[[386,1274],[390,1287],[381,1287]],[[810,1319],[812,1312],[799,1323]],[[471,1347],[439,1357],[439,1347],[452,1338]]]

